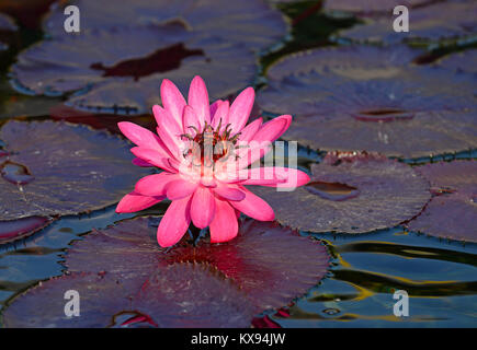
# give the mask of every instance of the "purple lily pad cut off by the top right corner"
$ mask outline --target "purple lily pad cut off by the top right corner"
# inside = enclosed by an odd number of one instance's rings
[[[472,37],[477,34],[477,3],[443,1],[409,11],[409,32],[395,32],[394,18],[366,20],[339,33],[340,37],[360,43],[440,42]]]

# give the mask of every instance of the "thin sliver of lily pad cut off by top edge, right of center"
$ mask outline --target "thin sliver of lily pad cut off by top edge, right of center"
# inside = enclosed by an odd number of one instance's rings
[[[435,0],[326,0],[325,10],[334,12],[353,13],[356,15],[376,15],[393,13],[397,5],[407,8],[421,7]]]

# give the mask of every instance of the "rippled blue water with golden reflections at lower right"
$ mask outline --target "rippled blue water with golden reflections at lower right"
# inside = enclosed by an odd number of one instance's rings
[[[477,245],[401,228],[365,235],[314,234],[333,256],[319,287],[272,316],[282,327],[475,327]],[[394,316],[393,294],[409,294],[409,316]]]

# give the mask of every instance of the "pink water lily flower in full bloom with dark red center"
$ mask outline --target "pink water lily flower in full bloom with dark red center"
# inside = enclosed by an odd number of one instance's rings
[[[116,212],[135,212],[169,198],[172,203],[160,221],[160,246],[174,245],[192,223],[209,228],[212,242],[226,242],[238,232],[240,212],[260,221],[274,219],[273,209],[245,185],[296,187],[309,182],[305,173],[286,167],[249,165],[263,156],[288,128],[292,116],[247,125],[254,91],[243,90],[229,105],[212,105],[204,81],[195,77],[189,104],[169,80],[161,85],[163,107],[152,107],[157,135],[133,122],[118,124],[137,147],[130,151],[138,166],[156,166],[160,174],[137,182],[134,191],[117,205]]]

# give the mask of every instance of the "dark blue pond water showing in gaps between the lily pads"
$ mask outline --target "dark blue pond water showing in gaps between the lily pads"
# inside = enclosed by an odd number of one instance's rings
[[[289,15],[303,12],[299,7],[283,9]],[[347,27],[353,21],[327,19],[318,27],[314,23],[302,21],[295,40],[280,54],[263,58],[262,63],[287,51],[325,45],[338,25]],[[8,81],[9,67],[18,52],[41,38],[37,27],[22,26],[10,43],[10,50],[0,51],[0,127],[11,118],[48,119],[50,108],[61,102],[59,97],[27,96],[13,90]],[[263,80],[257,81],[261,86]],[[444,158],[447,156],[454,155]],[[464,152],[458,158],[475,159],[476,153]],[[317,154],[305,154],[300,164],[318,159]],[[26,240],[1,246],[0,312],[18,293],[63,275],[63,255],[71,242],[122,220],[161,215],[166,208],[167,205],[160,205],[139,214],[117,214],[114,207],[109,207],[90,214],[64,217]],[[302,234],[326,244],[332,256],[331,269],[289,307],[261,315],[266,315],[272,324],[320,328],[477,326],[477,244],[439,240],[402,226],[360,235]],[[408,317],[394,316],[393,295],[397,290],[409,294]]]

